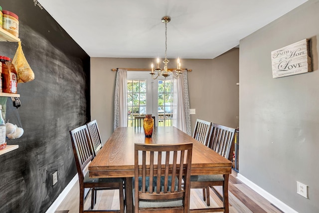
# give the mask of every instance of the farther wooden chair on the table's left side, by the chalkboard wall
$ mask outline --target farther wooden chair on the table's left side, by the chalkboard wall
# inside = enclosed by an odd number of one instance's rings
[[[88,128],[88,132],[90,136],[89,142],[93,152],[93,157],[95,157],[103,146],[100,132],[99,132],[98,123],[96,120],[94,120],[87,123],[86,126]]]

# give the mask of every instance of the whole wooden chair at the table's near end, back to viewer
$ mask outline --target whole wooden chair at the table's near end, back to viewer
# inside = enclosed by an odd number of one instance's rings
[[[188,213],[192,146],[135,144],[135,213]]]

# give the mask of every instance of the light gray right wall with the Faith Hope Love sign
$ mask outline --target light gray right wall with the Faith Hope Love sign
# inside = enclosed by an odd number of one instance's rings
[[[310,0],[240,41],[239,172],[300,213],[319,212],[318,37],[319,1]],[[273,79],[271,51],[305,38],[314,71]]]

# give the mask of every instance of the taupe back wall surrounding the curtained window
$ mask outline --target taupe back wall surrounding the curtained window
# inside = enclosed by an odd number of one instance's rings
[[[91,58],[91,119],[98,121],[103,141],[113,132],[116,72],[111,69],[148,68],[151,62],[145,58]],[[183,59],[182,64],[193,70],[188,72],[190,108],[196,109],[196,115],[191,115],[192,131],[196,118],[236,128],[239,49],[215,59]]]

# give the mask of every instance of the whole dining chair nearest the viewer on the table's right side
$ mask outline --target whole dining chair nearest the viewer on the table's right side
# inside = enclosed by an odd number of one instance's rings
[[[235,129],[222,126],[219,124],[212,124],[211,139],[208,147],[224,158],[232,161],[232,153],[234,149],[234,135]],[[207,200],[207,206],[210,206],[209,188],[213,186],[222,186],[223,188],[223,208],[211,208],[211,210],[228,212],[228,177],[229,175],[196,175],[190,177],[191,189],[206,189],[206,195],[204,195],[204,201]],[[217,191],[214,190],[216,193]],[[221,197],[221,196],[220,196]],[[206,209],[205,209],[206,210]],[[197,210],[190,210],[194,212]]]

